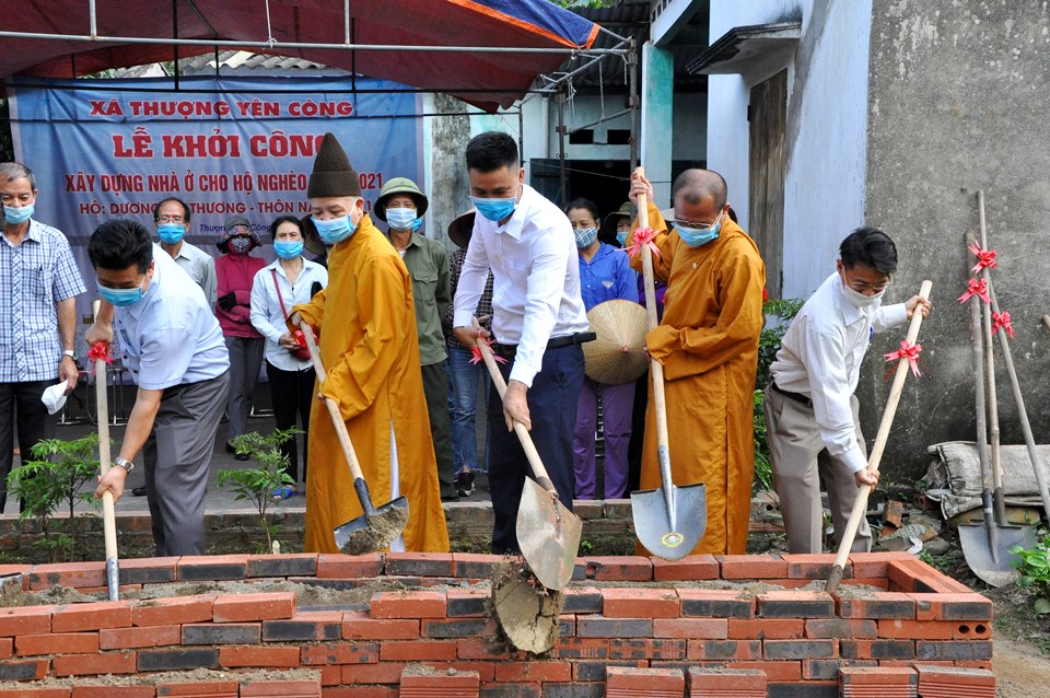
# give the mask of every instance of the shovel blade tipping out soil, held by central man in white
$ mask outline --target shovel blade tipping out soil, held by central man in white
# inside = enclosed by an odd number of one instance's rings
[[[558,498],[526,477],[517,508],[517,545],[539,583],[562,589],[572,579],[583,522]]]

